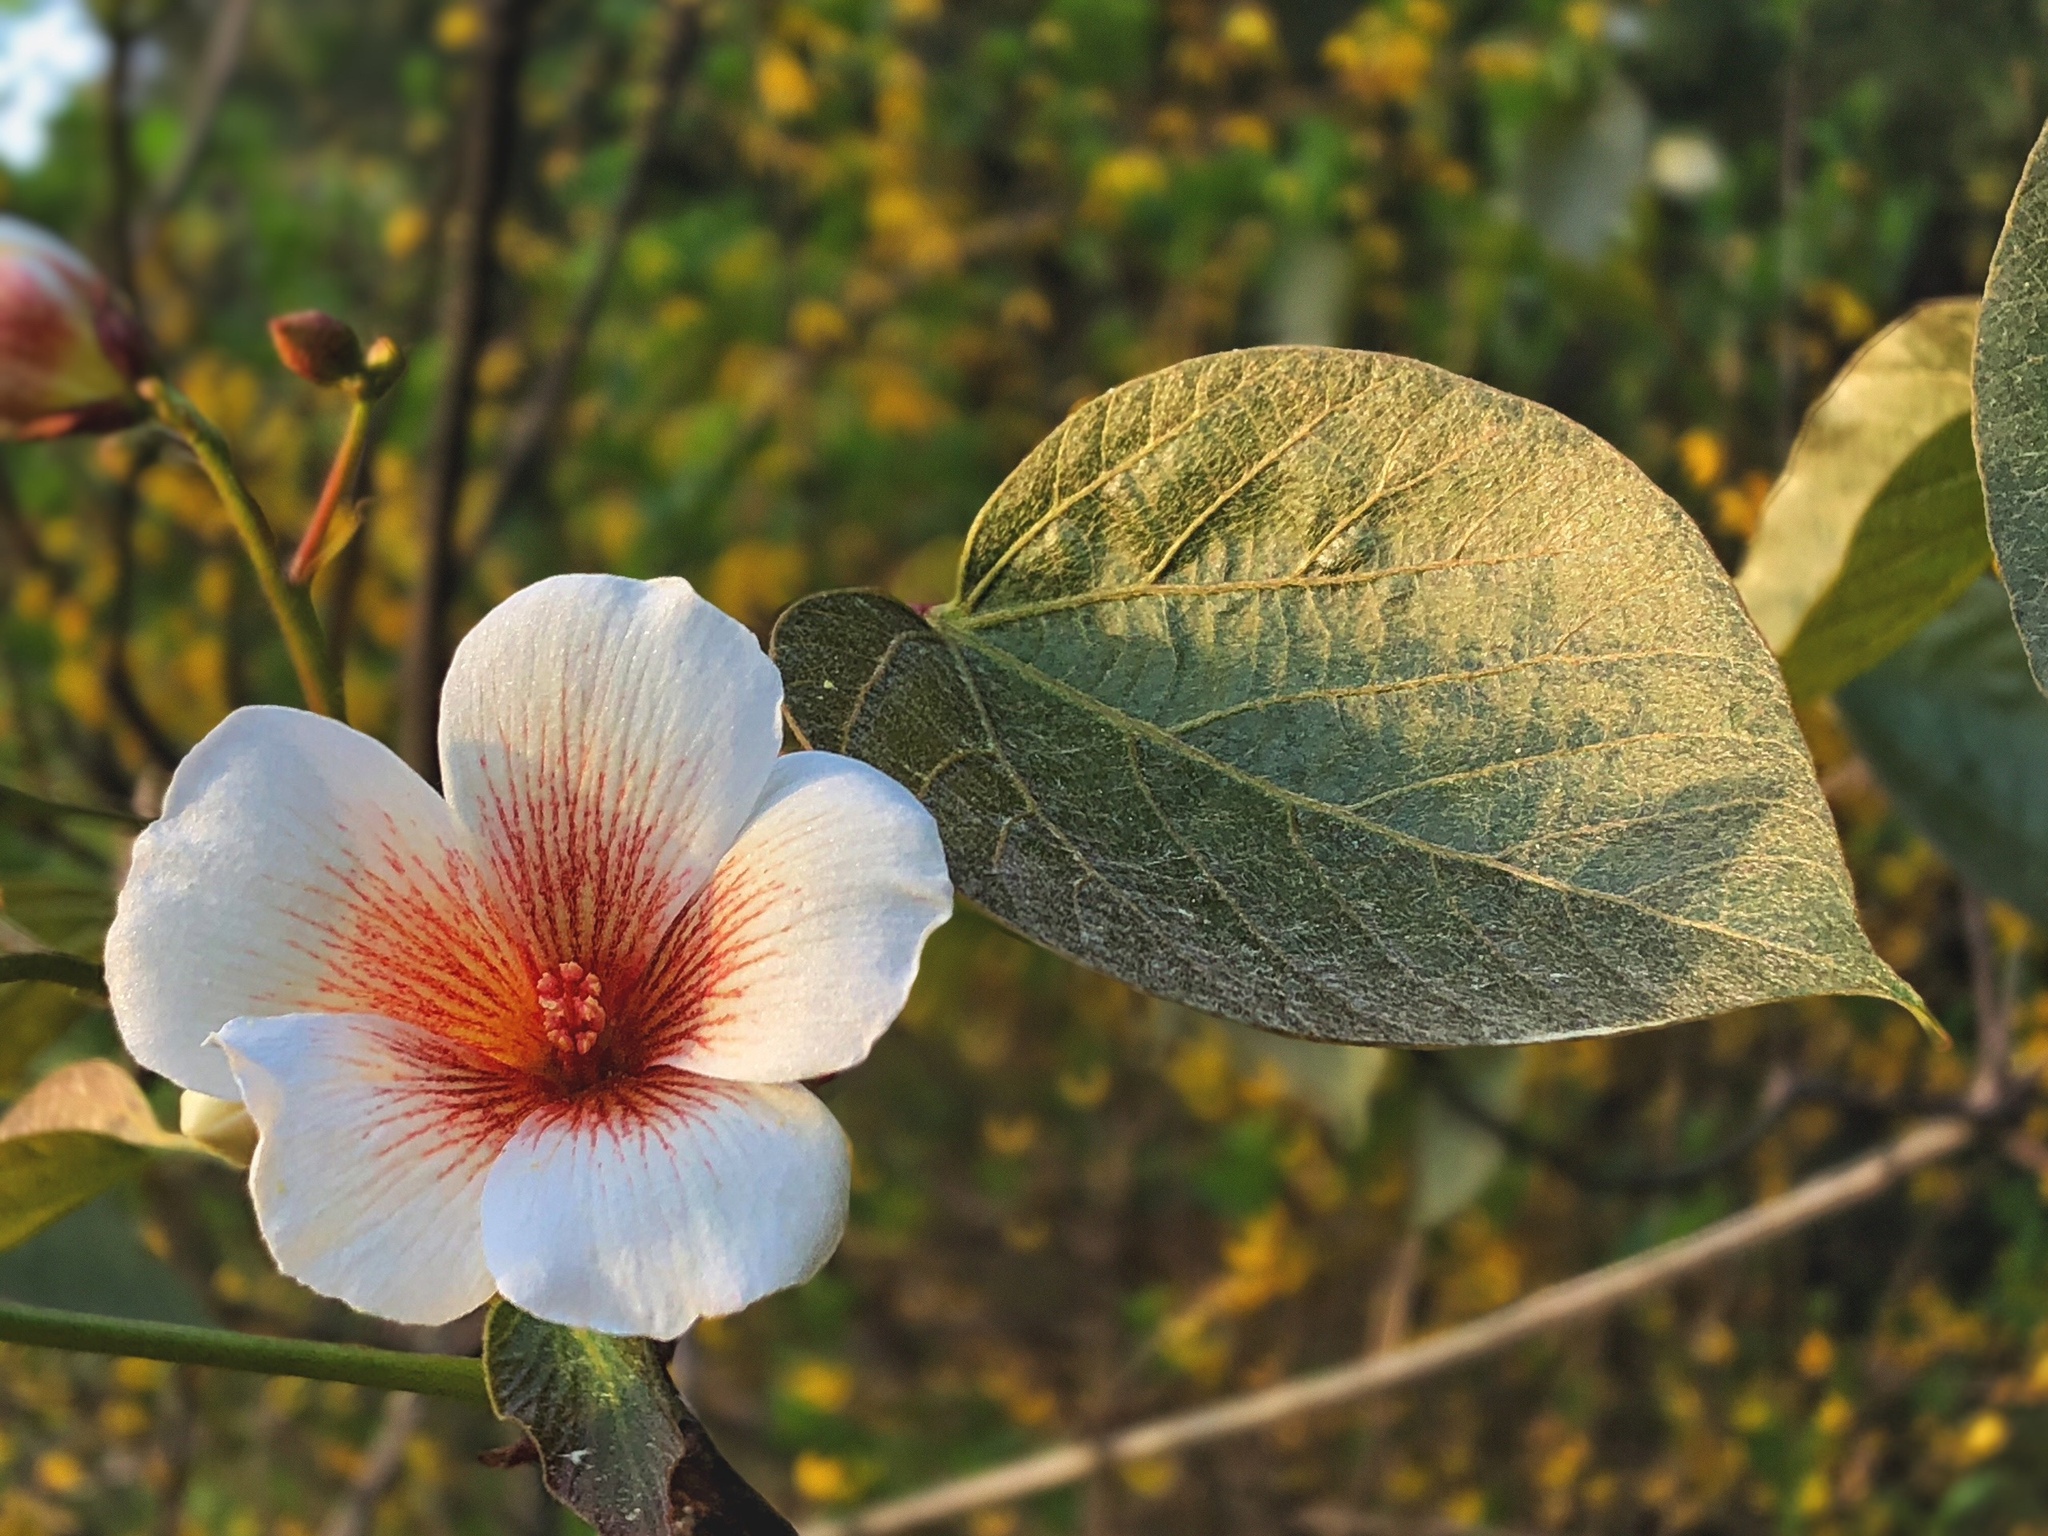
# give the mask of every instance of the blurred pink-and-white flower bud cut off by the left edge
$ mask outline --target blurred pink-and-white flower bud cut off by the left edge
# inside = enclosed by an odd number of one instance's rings
[[[141,326],[92,264],[0,213],[0,436],[113,432],[141,418]]]

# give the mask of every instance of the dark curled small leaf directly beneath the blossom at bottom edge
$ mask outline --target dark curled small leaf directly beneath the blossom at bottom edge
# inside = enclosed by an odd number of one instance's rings
[[[498,1417],[532,1440],[549,1493],[600,1536],[795,1536],[711,1444],[649,1339],[500,1300],[483,1321],[483,1374]]]

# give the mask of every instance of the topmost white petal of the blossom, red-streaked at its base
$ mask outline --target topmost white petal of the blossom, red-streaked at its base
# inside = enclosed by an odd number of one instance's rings
[[[440,778],[543,965],[633,985],[760,799],[780,707],[754,635],[680,580],[557,575],[469,631]]]

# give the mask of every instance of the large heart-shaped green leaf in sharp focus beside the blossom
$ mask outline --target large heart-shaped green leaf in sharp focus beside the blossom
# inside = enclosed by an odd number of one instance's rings
[[[911,786],[967,897],[1212,1014],[1450,1044],[1917,1006],[1686,514],[1421,362],[1114,389],[995,492],[954,602],[807,598],[774,655],[799,735]]]

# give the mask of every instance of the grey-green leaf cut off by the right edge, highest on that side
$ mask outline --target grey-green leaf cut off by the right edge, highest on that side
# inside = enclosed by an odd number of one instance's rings
[[[1991,256],[1974,385],[1991,543],[2034,678],[2048,684],[2048,129]]]

